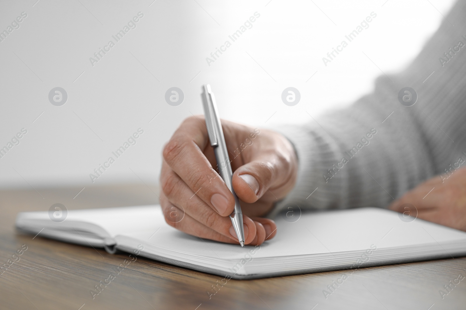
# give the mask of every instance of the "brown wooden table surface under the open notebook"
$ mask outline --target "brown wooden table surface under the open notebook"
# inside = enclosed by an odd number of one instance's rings
[[[152,204],[158,189],[86,187],[75,197],[81,189],[0,191],[0,264],[27,246],[0,276],[0,309],[466,309],[466,278],[444,299],[439,293],[459,274],[466,277],[466,258],[359,269],[327,299],[322,291],[343,271],[232,279],[209,299],[207,291],[222,277],[138,257],[92,299],[89,291],[128,254],[17,234],[16,214],[55,203],[68,209]]]

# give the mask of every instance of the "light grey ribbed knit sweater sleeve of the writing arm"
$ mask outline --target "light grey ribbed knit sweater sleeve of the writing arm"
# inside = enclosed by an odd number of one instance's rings
[[[295,146],[299,171],[270,216],[288,204],[387,207],[466,159],[465,16],[460,0],[410,66],[379,77],[374,92],[352,106],[278,130]],[[412,106],[398,100],[404,87],[417,93]]]

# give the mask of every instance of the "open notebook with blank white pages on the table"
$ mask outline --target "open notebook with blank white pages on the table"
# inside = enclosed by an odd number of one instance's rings
[[[47,211],[21,212],[16,227],[237,279],[466,256],[466,232],[418,218],[405,222],[383,209],[310,212],[294,223],[281,216],[275,221],[272,240],[244,248],[177,231],[165,223],[158,205],[70,210],[61,223]]]

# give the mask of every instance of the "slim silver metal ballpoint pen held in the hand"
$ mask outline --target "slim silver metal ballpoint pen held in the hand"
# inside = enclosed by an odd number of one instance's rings
[[[225,182],[228,189],[232,192],[234,197],[234,210],[230,214],[230,219],[233,224],[234,231],[238,237],[241,247],[244,247],[244,227],[243,227],[243,212],[241,212],[240,200],[233,190],[232,177],[233,171],[230,165],[230,157],[226,149],[225,137],[223,135],[222,124],[220,123],[219,113],[217,112],[217,105],[215,104],[215,97],[213,96],[210,85],[202,86],[202,104],[204,106],[204,115],[206,116],[206,127],[209,134],[210,145],[215,152],[217,159],[217,167],[220,177]]]

